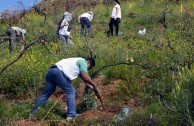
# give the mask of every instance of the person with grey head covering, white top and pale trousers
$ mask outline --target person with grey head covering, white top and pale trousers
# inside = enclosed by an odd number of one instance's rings
[[[69,12],[65,12],[63,19],[59,22],[58,25],[58,38],[63,42],[63,44],[68,43],[69,45],[73,46],[74,43],[70,39],[70,30],[71,26],[69,22],[72,20],[72,15]]]

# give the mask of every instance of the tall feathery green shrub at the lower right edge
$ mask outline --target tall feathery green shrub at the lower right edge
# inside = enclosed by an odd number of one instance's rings
[[[176,78],[170,100],[174,101],[173,107],[186,116],[189,125],[193,125],[194,71],[185,68],[179,70],[182,72],[179,72],[178,78]]]

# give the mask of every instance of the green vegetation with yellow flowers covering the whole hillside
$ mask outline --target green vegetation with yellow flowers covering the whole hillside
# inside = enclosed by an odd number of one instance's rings
[[[16,63],[1,74],[0,93],[23,100],[36,97],[44,85],[47,69],[62,58],[90,56],[89,44],[93,54],[96,55],[97,64],[91,73],[105,65],[130,63],[129,59],[134,59],[135,65],[109,67],[101,70],[99,75],[106,76],[106,84],[112,80],[121,80],[117,88],[119,98],[128,100],[138,97],[141,99],[138,105],[145,107],[144,111],[133,112],[123,122],[118,122],[114,118],[107,125],[146,125],[151,113],[155,117],[156,125],[180,125],[183,115],[188,119],[189,125],[193,125],[191,107],[194,81],[193,2],[132,0],[122,1],[121,7],[122,20],[119,31],[124,34],[117,37],[107,37],[105,34],[108,30],[112,5],[99,4],[90,8],[94,12],[92,20],[94,38],[80,35],[80,24],[75,19],[85,10],[75,9],[72,12],[74,20],[71,21],[73,25],[71,36],[75,45],[66,48],[62,46],[56,35],[57,24],[64,12],[54,12],[46,21],[44,16],[28,13],[26,15],[28,20],[21,19],[18,24],[27,30],[27,44],[47,33],[45,44],[51,53],[40,42],[29,48]],[[167,27],[164,27],[165,25]],[[8,24],[0,26],[0,33],[4,34]],[[146,34],[138,35],[138,30],[144,27],[147,30]],[[20,46],[18,43],[15,53],[9,54],[8,41],[1,43],[0,68],[19,55]],[[76,79],[73,82],[78,84],[80,80]],[[180,113],[168,112],[158,101],[158,93],[164,95],[168,105]],[[92,98],[88,99],[86,102],[91,103],[92,108]],[[2,120],[2,125],[6,125],[6,120],[9,122],[27,118],[29,104],[24,102],[22,105],[13,103],[12,106],[6,106],[3,101],[0,101],[0,125]],[[56,114],[62,111],[60,104],[57,103],[50,110],[52,107],[53,102],[49,101],[45,108],[40,108],[37,119],[42,120],[44,117],[45,120],[60,119]],[[20,110],[26,111],[19,113]]]

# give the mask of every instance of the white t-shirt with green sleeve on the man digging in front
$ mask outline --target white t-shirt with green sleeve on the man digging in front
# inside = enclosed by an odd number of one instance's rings
[[[70,80],[77,78],[81,71],[87,72],[86,60],[81,57],[62,59],[59,62],[55,63],[55,65]]]

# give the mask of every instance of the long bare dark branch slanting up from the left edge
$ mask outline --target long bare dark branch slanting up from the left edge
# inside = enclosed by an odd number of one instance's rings
[[[36,40],[34,40],[32,43],[26,45],[26,46],[24,47],[24,49],[22,50],[22,52],[19,54],[19,56],[16,57],[16,59],[14,59],[13,61],[11,61],[11,62],[8,63],[7,65],[5,65],[3,68],[1,68],[1,70],[0,70],[0,75],[1,75],[1,74],[2,74],[9,66],[11,66],[13,63],[15,63],[16,61],[18,61],[18,60],[22,57],[22,55],[26,52],[26,50],[27,50],[29,47],[31,47],[31,46],[34,45],[36,42],[38,42],[39,40],[41,40],[42,37],[45,36],[46,34],[47,34],[47,33],[45,33],[45,34],[39,36],[39,37],[38,37]]]

